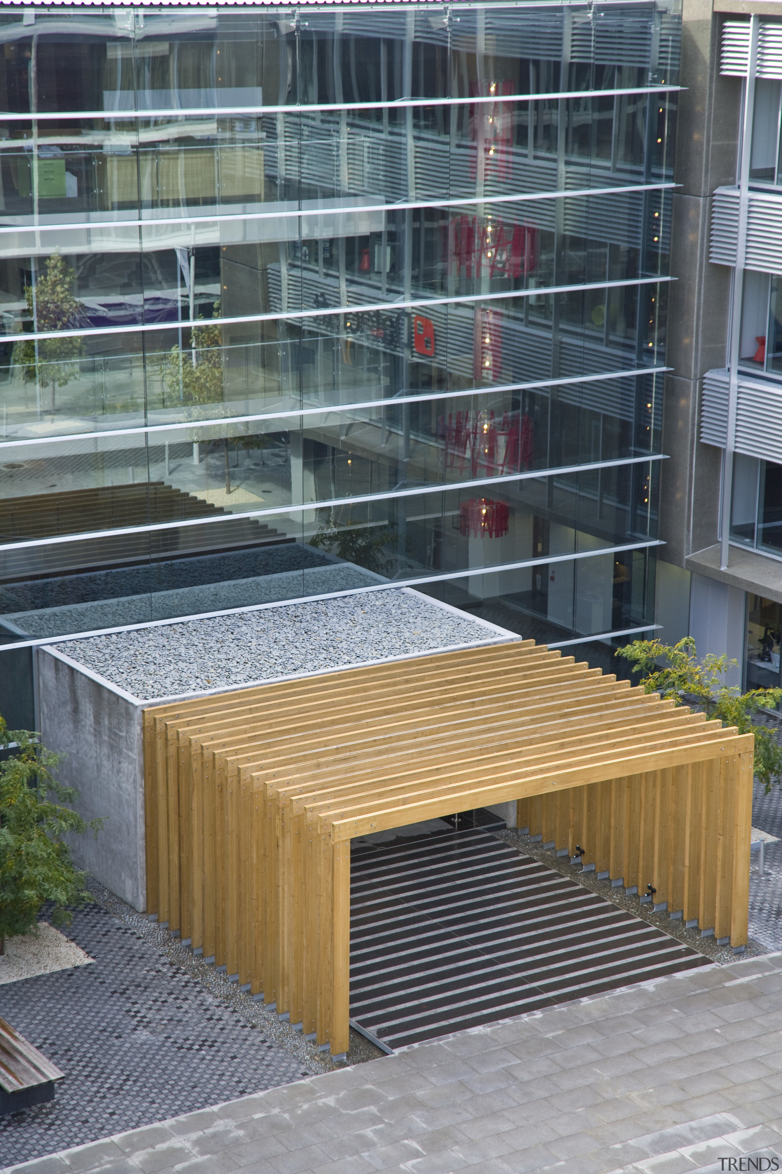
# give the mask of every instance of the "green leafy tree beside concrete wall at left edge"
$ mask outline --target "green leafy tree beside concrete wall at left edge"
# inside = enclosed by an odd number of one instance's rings
[[[73,864],[63,836],[88,828],[97,835],[103,824],[63,807],[77,791],[52,777],[62,756],[28,730],[8,730],[0,717],[0,747],[14,742],[13,756],[0,763],[0,954],[6,938],[35,927],[45,904],[54,904],[55,925],[68,925],[70,908],[90,899],[87,873]]]

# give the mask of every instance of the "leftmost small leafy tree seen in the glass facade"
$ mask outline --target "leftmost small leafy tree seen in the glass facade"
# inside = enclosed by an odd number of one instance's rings
[[[27,311],[36,330],[75,330],[79,325],[80,305],[73,288],[76,275],[59,252],[53,252],[46,262],[35,286],[25,286]],[[41,387],[64,387],[79,376],[79,359],[84,353],[81,338],[41,338],[16,343],[14,363],[21,366],[25,380]]]

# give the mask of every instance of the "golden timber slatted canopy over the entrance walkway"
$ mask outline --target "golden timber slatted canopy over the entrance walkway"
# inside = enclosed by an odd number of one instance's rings
[[[154,707],[148,910],[334,1054],[356,836],[517,801],[740,946],[753,744],[531,640]]]

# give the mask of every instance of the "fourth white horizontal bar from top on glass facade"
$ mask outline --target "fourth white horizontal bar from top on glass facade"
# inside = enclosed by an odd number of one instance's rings
[[[287,420],[297,419],[298,417],[315,417],[332,414],[334,412],[355,412],[366,411],[374,407],[392,407],[399,406],[401,404],[423,404],[430,400],[437,399],[463,399],[469,396],[488,396],[488,394],[504,394],[518,391],[537,391],[545,387],[562,387],[569,384],[580,384],[580,383],[597,383],[610,379],[627,379],[634,378],[637,376],[651,376],[651,375],[665,375],[672,371],[673,367],[667,366],[648,366],[648,367],[635,367],[627,371],[607,371],[599,372],[598,375],[574,375],[567,376],[558,379],[538,379],[532,383],[510,383],[510,384],[498,384],[488,385],[484,387],[467,387],[463,391],[421,391],[415,392],[409,396],[393,396],[388,399],[366,399],[356,400],[348,404],[324,404],[318,407],[295,407],[290,410],[279,410],[274,412],[258,412],[244,416],[216,416],[211,419],[196,419],[196,420],[181,420],[176,424],[148,424],[141,425],[138,427],[128,429],[106,429],[100,432],[67,432],[59,436],[48,437],[33,437],[33,438],[21,438],[19,440],[0,440],[0,450],[13,448],[18,450],[20,447],[28,447],[30,445],[41,444],[62,444],[74,443],[76,440],[104,440],[109,437],[125,437],[125,436],[148,436],[148,434],[166,434],[172,432],[182,432],[183,427],[186,429],[199,429],[199,427],[213,427],[215,425],[232,425],[232,424],[249,424],[261,420]]]

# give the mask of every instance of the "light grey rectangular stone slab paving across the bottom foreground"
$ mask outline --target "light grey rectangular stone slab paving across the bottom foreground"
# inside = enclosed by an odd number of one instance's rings
[[[780,953],[672,976],[7,1169],[682,1174],[748,1155],[782,1167],[781,992]]]

